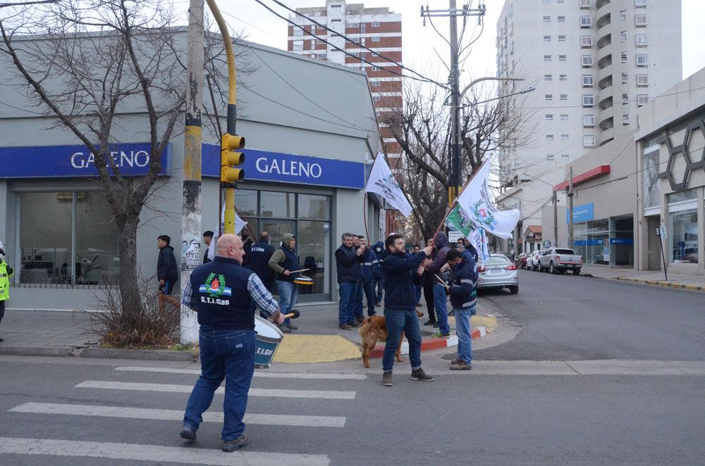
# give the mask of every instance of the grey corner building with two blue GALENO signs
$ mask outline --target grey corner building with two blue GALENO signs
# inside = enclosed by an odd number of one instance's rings
[[[185,31],[175,34],[174,43],[176,51],[185,53]],[[312,286],[300,288],[300,301],[336,299],[333,252],[341,234],[364,231],[364,215],[371,239],[381,238],[384,227],[379,207],[369,202],[367,213],[362,208],[366,162],[379,150],[367,77],[257,44],[238,42],[236,53],[252,71],[238,76],[243,83],[238,89],[238,134],[246,137],[247,147],[245,181],[238,183],[235,207],[248,222],[251,237],[266,230],[278,246],[284,233],[296,235],[301,268],[309,268],[307,275],[314,279]],[[10,66],[1,73],[4,80],[13,78]],[[341,81],[350,82],[348,92],[338,92]],[[289,83],[301,94],[290,92]],[[92,155],[71,132],[54,127],[53,117],[24,111],[30,103],[23,94],[11,88],[0,94],[1,101],[11,104],[0,108],[0,239],[18,271],[9,306],[94,309],[101,290],[116,281],[121,264],[111,209],[94,181]],[[120,130],[111,150],[125,176],[144,175],[149,165],[147,114],[138,102],[116,115]],[[223,108],[219,114],[224,128]],[[216,231],[219,134],[216,115],[203,115],[202,230]],[[178,262],[185,251],[180,241],[182,130],[175,130],[161,160],[137,232],[137,267],[142,277],[151,279],[152,288],[157,236],[172,238]]]

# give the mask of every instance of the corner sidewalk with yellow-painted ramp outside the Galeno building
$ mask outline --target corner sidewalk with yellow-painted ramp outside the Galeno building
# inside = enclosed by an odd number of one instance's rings
[[[482,306],[479,306],[481,308]],[[301,317],[292,320],[298,330],[285,334],[276,353],[279,363],[326,363],[361,357],[360,335],[357,329],[338,328],[337,303],[297,306]],[[420,309],[420,308],[419,308]],[[425,308],[424,308],[425,310]],[[376,308],[382,315],[382,308]],[[479,310],[478,312],[482,312]],[[425,319],[426,316],[422,317]],[[451,318],[451,329],[455,320]],[[494,317],[473,320],[473,338],[484,336],[496,325]],[[431,339],[436,331],[422,326],[423,350],[454,346],[457,339]],[[8,306],[0,325],[0,355],[74,356],[81,358],[124,358],[150,360],[195,360],[193,351],[121,350],[97,347],[97,336],[91,333],[88,313],[56,310],[16,310]],[[404,341],[402,350],[408,351]],[[379,353],[381,355],[381,353]],[[373,356],[374,357],[374,356]]]

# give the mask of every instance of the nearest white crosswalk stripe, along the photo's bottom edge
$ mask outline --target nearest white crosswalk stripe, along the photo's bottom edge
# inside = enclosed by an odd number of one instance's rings
[[[176,462],[180,464],[216,466],[327,466],[330,464],[330,460],[326,455],[266,453],[247,451],[246,448],[233,453],[225,453],[203,448],[142,445],[137,443],[13,437],[0,437],[0,453],[111,458],[114,460],[153,461],[159,464]]]

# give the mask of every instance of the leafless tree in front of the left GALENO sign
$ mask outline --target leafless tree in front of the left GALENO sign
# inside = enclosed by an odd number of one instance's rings
[[[169,140],[182,131],[185,29],[162,0],[65,0],[18,9],[0,20],[0,50],[18,87],[54,127],[73,133],[94,156],[97,183],[114,215],[126,315],[140,309],[137,227]],[[223,69],[222,46],[207,34],[207,73]],[[182,41],[182,46],[179,46]],[[216,80],[217,82],[218,80]],[[123,176],[111,156],[123,124],[144,116],[150,159],[145,175]],[[132,120],[134,123],[134,120]]]

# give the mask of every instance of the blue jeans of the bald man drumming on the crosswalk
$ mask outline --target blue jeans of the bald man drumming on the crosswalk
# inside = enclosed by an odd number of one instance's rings
[[[243,417],[247,409],[247,392],[255,372],[255,331],[201,327],[199,333],[201,376],[188,398],[183,424],[198,429],[203,421],[201,415],[226,379],[221,437],[223,441],[237,439],[245,431]]]

